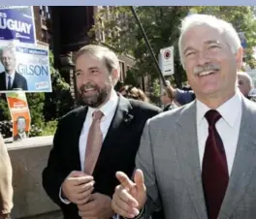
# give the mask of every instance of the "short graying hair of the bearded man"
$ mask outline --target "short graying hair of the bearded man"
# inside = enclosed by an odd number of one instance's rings
[[[116,54],[109,47],[103,47],[99,45],[87,45],[87,46],[81,47],[74,57],[74,62],[76,63],[80,55],[85,53],[95,56],[99,58],[101,61],[103,61],[110,74],[114,69],[117,70],[118,78],[119,78],[120,76],[119,60]],[[114,82],[116,83],[117,81],[114,81]]]

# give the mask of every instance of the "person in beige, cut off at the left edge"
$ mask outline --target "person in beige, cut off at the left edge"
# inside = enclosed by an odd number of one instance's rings
[[[13,203],[13,169],[11,160],[0,134],[0,219],[10,218]]]

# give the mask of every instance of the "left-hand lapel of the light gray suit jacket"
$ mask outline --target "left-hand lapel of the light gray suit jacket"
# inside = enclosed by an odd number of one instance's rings
[[[205,219],[208,215],[202,185],[196,124],[196,102],[194,101],[183,109],[177,119],[176,136],[180,138],[176,151],[180,170],[183,172],[186,188],[198,218]]]

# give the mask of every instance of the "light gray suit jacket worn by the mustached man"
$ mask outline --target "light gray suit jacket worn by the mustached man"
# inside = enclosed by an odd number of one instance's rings
[[[236,109],[231,113],[232,110]],[[147,188],[147,202],[140,218],[148,219],[159,207],[166,219],[208,218],[195,101],[147,121],[136,165],[144,172]],[[256,218],[256,105],[245,98],[236,157],[218,216],[228,218]]]

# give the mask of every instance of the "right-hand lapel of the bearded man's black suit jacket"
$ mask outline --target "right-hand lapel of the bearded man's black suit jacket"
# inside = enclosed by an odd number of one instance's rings
[[[119,96],[117,108],[115,109],[107,136],[103,141],[102,149],[94,173],[100,172],[101,167],[104,167],[106,164],[108,164],[110,155],[112,158],[114,158],[117,151],[115,149],[116,146],[121,146],[117,144],[116,141],[123,135],[123,129],[126,127],[126,124],[128,124],[133,118],[133,115],[129,113],[131,109],[132,106],[129,100]]]

